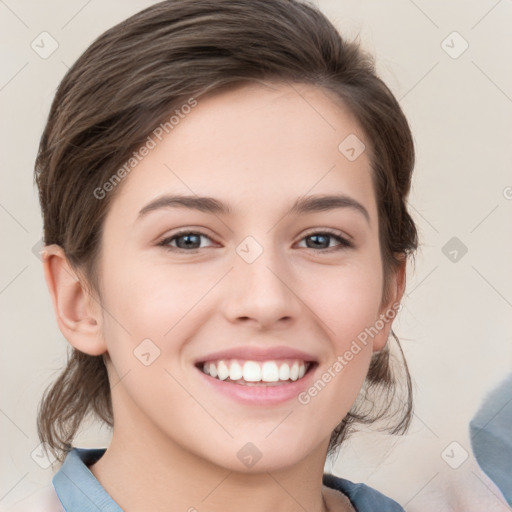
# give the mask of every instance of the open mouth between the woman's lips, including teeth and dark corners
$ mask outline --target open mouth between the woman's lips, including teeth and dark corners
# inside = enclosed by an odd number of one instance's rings
[[[296,382],[311,372],[318,363],[300,359],[251,361],[221,359],[196,364],[204,374],[241,386],[282,386]]]

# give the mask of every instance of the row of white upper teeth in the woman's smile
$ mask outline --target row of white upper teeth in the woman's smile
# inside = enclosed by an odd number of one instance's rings
[[[277,361],[238,361],[236,359],[208,361],[203,364],[203,372],[220,380],[245,380],[247,382],[277,382],[297,380],[304,377],[309,363],[300,360]]]

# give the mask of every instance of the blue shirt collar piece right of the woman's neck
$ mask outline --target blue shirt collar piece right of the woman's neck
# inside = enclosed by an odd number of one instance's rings
[[[366,484],[354,483],[330,473],[324,473],[323,483],[345,494],[357,512],[405,512],[396,501]]]

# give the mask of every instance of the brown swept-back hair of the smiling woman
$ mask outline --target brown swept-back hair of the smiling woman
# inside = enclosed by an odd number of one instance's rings
[[[99,290],[103,221],[119,187],[101,199],[95,190],[191,97],[260,81],[322,87],[348,106],[365,132],[387,302],[392,272],[418,243],[406,207],[414,167],[412,135],[398,102],[376,76],[373,59],[300,0],[160,2],[103,33],[66,73],[41,137],[35,179],[44,243],[64,249],[91,293]],[[329,453],[357,423],[398,414],[391,432],[407,430],[410,375],[403,358],[398,366],[405,373],[405,401],[399,399],[393,411],[400,381],[390,363],[386,344],[373,354],[356,404],[332,433]],[[367,407],[376,396],[381,398],[377,412]],[[41,441],[63,460],[90,413],[113,426],[106,367],[102,356],[72,349],[66,368],[41,400]]]

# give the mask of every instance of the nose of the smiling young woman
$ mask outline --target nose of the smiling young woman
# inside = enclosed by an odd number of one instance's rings
[[[225,283],[224,314],[232,323],[254,323],[276,329],[298,318],[299,291],[286,255],[266,244],[254,261],[236,253]],[[240,256],[242,254],[242,256]]]

